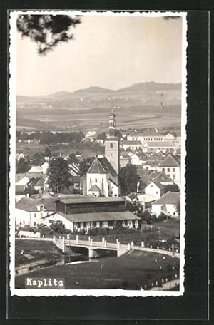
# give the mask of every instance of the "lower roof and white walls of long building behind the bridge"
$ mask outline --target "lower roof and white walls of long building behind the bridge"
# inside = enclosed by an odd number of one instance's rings
[[[71,232],[88,231],[92,228],[113,228],[116,222],[120,222],[123,227],[138,228],[140,217],[130,211],[116,212],[93,212],[93,213],[74,213],[66,214],[55,212],[52,215],[43,217],[42,223],[47,227],[53,222],[61,221],[66,229]]]

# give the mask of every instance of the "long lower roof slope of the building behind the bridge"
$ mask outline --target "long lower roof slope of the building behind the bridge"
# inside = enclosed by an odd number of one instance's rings
[[[93,212],[78,213],[67,215],[63,212],[57,212],[71,222],[95,222],[95,221],[116,221],[116,220],[141,220],[140,217],[134,215],[130,211],[123,212]]]

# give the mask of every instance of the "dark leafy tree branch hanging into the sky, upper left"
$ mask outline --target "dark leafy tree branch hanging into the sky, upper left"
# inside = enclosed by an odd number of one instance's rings
[[[50,51],[58,43],[73,39],[71,27],[80,24],[78,16],[19,15],[17,29],[37,44],[38,53]]]

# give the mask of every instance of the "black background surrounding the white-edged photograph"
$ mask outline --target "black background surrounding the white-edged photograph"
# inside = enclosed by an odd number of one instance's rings
[[[42,319],[140,320],[208,319],[208,55],[209,13],[207,1],[1,1],[1,319],[3,324],[46,324]],[[180,297],[18,297],[9,294],[6,272],[9,242],[8,214],[8,64],[9,21],[7,9],[96,9],[188,11],[188,127],[186,169],[185,294]],[[191,10],[191,11],[189,11]],[[200,11],[202,10],[202,11]],[[199,12],[200,11],[200,12]],[[210,39],[212,39],[212,33]],[[212,53],[212,46],[210,48]],[[211,63],[212,63],[211,57]],[[212,89],[212,78],[210,79]],[[210,114],[212,117],[212,111]],[[211,155],[211,158],[213,156]],[[211,189],[212,190],[212,189]],[[211,244],[210,244],[211,246]],[[212,315],[211,315],[212,316]],[[9,318],[11,320],[7,320]],[[20,319],[20,321],[19,321]],[[26,321],[24,321],[26,319]],[[126,321],[125,321],[126,319]],[[14,320],[14,321],[13,321]],[[135,320],[135,321],[133,321]],[[138,321],[137,321],[138,320]],[[84,322],[84,321],[81,321]],[[105,321],[106,322],[106,321]],[[145,323],[147,321],[144,321]],[[143,322],[143,323],[144,323]],[[165,324],[167,321],[161,321]],[[168,321],[167,323],[171,323]],[[80,323],[80,322],[78,322]],[[183,322],[182,322],[183,323]],[[187,321],[185,321],[187,324]]]

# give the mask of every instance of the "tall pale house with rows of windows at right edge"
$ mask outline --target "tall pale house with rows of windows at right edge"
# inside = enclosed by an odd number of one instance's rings
[[[158,172],[165,172],[180,187],[180,164],[172,155],[168,155],[159,162],[156,170]]]

